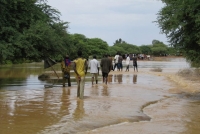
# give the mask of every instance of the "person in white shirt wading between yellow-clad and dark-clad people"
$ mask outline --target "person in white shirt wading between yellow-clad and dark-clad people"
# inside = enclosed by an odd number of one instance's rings
[[[94,78],[96,80],[96,84],[98,84],[98,75],[99,75],[99,61],[96,60],[96,56],[93,56],[93,59],[89,62],[90,73],[92,74],[92,85],[94,83]]]

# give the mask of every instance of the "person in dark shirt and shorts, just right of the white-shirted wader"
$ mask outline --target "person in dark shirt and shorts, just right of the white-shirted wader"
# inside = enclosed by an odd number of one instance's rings
[[[112,61],[108,58],[108,55],[106,54],[101,59],[101,63],[100,63],[102,76],[103,76],[103,83],[105,82],[106,85],[107,85],[107,82],[108,82],[108,73],[112,69],[111,62]]]

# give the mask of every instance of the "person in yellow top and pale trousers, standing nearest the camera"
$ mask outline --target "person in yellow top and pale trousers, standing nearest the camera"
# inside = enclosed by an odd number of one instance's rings
[[[82,57],[82,51],[78,51],[78,58],[74,60],[74,72],[77,81],[77,97],[83,99],[85,87],[85,75],[87,74],[87,60]]]

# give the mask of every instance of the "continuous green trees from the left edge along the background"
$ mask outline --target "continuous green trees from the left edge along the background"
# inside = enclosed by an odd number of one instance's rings
[[[122,39],[112,46],[100,38],[70,34],[68,22],[60,20],[60,12],[46,0],[0,0],[0,64],[41,61],[50,57],[56,61],[68,54],[71,59],[82,50],[83,56],[104,54],[179,55],[180,50],[154,39],[137,46]]]

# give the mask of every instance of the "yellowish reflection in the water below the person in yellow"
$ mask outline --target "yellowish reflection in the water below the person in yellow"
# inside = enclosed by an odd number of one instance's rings
[[[85,115],[84,100],[78,99],[76,101],[76,109],[73,113],[74,120],[81,120]]]

